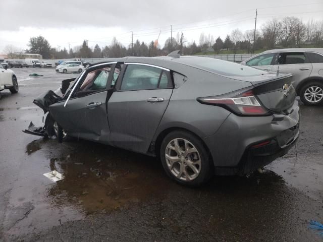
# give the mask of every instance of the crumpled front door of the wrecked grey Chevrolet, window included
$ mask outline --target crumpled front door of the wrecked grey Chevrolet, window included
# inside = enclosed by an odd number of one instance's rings
[[[113,63],[93,66],[83,72],[68,98],[49,106],[58,124],[73,137],[107,143],[110,135],[106,113],[107,95],[111,92]]]

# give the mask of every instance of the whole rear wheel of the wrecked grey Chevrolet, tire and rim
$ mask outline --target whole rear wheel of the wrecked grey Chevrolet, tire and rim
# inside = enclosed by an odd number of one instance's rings
[[[209,152],[202,141],[185,131],[171,132],[164,138],[160,160],[166,173],[182,185],[200,186],[214,172]]]

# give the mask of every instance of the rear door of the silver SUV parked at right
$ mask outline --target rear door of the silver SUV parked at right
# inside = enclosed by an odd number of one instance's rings
[[[305,52],[280,52],[273,71],[291,73],[292,84],[297,88],[298,84],[309,77],[312,71],[312,64],[309,62]]]

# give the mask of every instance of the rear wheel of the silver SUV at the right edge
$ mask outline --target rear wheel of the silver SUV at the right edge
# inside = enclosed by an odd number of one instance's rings
[[[305,84],[301,88],[299,96],[305,105],[323,104],[323,83],[310,82]]]

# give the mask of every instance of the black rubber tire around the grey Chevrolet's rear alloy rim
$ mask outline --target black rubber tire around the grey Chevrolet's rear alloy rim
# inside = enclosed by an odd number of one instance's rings
[[[167,161],[166,161],[166,148],[167,145],[172,142],[174,139],[185,139],[186,141],[189,141],[197,150],[201,165],[200,165],[200,171],[198,175],[192,179],[192,180],[183,180],[175,176],[175,174],[172,173],[170,168],[168,167]],[[174,131],[169,133],[161,142],[160,145],[160,161],[161,164],[164,167],[164,170],[166,171],[167,175],[170,176],[173,180],[175,180],[177,183],[189,187],[198,187],[204,183],[206,183],[213,175],[214,175],[214,165],[211,159],[211,156],[207,149],[204,147],[203,142],[195,135],[185,132],[185,131]],[[187,162],[187,161],[186,161]],[[183,161],[185,164],[185,160]],[[178,163],[177,163],[178,164]],[[188,167],[188,166],[186,166]],[[188,167],[189,168],[189,167]],[[186,172],[187,169],[185,168]]]

